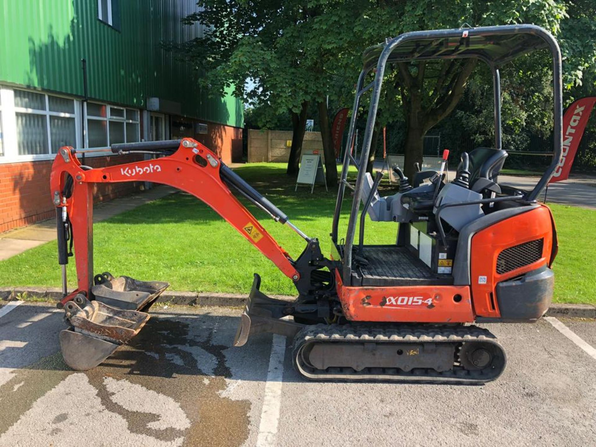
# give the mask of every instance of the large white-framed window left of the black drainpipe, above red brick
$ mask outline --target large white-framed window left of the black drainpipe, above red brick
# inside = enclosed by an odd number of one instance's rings
[[[56,154],[76,146],[75,101],[24,90],[14,91],[18,155]]]

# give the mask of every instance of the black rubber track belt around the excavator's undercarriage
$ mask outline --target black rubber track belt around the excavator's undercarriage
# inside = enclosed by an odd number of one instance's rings
[[[502,353],[500,370],[489,372],[465,370],[454,364],[449,371],[438,372],[426,368],[415,368],[402,371],[399,368],[364,368],[355,371],[353,368],[327,368],[317,371],[303,364],[300,352],[309,343],[324,342],[375,342],[375,343],[455,343],[460,346],[466,342],[491,343]],[[456,346],[455,353],[458,353]],[[296,370],[309,380],[341,380],[341,381],[405,381],[424,383],[460,383],[482,384],[495,380],[505,369],[506,357],[501,344],[488,330],[471,326],[403,326],[367,328],[357,326],[312,325],[300,331],[294,339],[293,362]]]

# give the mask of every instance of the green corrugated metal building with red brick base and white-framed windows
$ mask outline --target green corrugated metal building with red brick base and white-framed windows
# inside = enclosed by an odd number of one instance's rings
[[[195,11],[195,0],[0,0],[0,198],[15,189],[3,171],[42,170],[61,145],[193,136],[241,157],[240,101],[210,98],[164,49],[201,35],[181,23]],[[0,231],[38,220],[28,208],[19,201],[21,222],[0,218]]]

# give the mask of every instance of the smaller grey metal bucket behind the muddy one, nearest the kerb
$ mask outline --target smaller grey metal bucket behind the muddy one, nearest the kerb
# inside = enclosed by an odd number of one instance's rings
[[[131,277],[114,278],[110,272],[95,275],[91,293],[96,300],[117,309],[147,311],[170,283],[139,281]]]

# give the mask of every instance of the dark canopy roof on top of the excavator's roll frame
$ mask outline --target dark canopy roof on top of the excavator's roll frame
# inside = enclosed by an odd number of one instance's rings
[[[552,45],[557,45],[552,35],[535,25],[417,31],[367,48],[364,68],[377,66],[385,49],[390,51],[389,63],[474,57],[499,66],[537,49],[551,46],[552,51]]]

